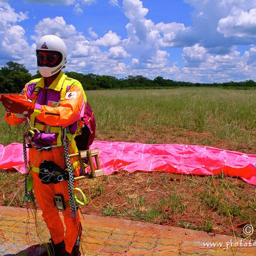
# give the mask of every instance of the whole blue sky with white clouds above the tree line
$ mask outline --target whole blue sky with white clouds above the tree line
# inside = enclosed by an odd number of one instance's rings
[[[256,81],[255,0],[0,0],[0,66],[35,74],[46,34],[66,43],[63,71]]]

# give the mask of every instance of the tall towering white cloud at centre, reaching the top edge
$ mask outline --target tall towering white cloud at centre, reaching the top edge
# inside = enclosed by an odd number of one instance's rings
[[[166,33],[168,37],[172,32],[175,33],[175,30],[186,29],[185,26],[175,22],[155,25],[152,20],[146,18],[148,9],[143,7],[140,0],[124,0],[123,10],[129,18],[126,25],[128,38],[123,40],[123,46],[128,53],[137,56],[133,57],[127,66],[128,75],[143,75],[148,78],[163,75],[172,79],[174,75],[180,76],[177,66],[168,67],[170,54],[160,47],[170,45],[168,39],[161,34]],[[170,34],[167,35],[168,33]]]

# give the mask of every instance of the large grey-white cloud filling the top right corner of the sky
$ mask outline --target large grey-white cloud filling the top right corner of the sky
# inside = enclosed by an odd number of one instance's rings
[[[194,8],[191,14],[193,28],[187,34],[189,37],[185,37],[186,45],[200,43],[210,53],[226,54],[235,44],[253,43],[252,38],[240,35],[252,36],[255,33],[255,0],[185,0],[185,3]],[[196,42],[190,41],[192,35]],[[231,38],[233,35],[236,37]]]

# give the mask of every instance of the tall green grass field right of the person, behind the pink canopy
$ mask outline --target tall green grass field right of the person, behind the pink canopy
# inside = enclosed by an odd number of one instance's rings
[[[129,141],[154,130],[145,143],[175,143],[179,137],[182,142],[184,132],[191,132],[201,134],[201,145],[222,141],[230,150],[241,145],[255,149],[256,90],[104,90],[89,91],[87,96],[97,119],[98,140]],[[169,132],[175,133],[175,141],[168,140]]]

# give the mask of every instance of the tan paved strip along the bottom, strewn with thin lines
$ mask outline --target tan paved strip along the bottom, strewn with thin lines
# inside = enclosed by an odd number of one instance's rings
[[[49,231],[40,210],[37,211],[36,222],[38,225],[35,225],[35,215],[31,210],[0,207],[0,255],[27,253],[27,248],[32,250],[36,244],[48,242]],[[243,240],[243,238],[207,234],[197,230],[85,214],[82,226],[84,232],[81,246],[86,256],[211,255],[214,253],[225,256],[256,255],[256,242],[250,238]],[[9,252],[13,254],[3,254]],[[34,250],[33,253],[30,252],[29,255],[40,255],[38,250]]]

